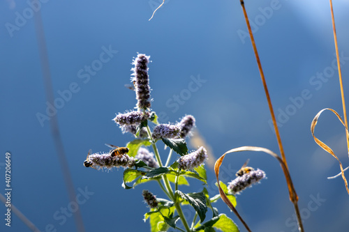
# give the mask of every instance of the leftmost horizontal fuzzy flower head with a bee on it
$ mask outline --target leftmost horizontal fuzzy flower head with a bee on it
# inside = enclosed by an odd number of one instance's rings
[[[135,159],[127,154],[110,156],[109,153],[94,153],[87,157],[84,161],[85,167],[93,167],[94,169],[111,169],[113,167],[131,168],[135,165]]]

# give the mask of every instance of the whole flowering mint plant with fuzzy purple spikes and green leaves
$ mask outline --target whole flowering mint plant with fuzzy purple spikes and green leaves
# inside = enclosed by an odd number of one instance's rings
[[[144,221],[149,220],[151,231],[168,231],[171,227],[187,232],[215,229],[239,231],[232,219],[225,214],[219,214],[217,208],[214,208],[213,204],[221,195],[210,197],[205,187],[207,175],[204,163],[207,160],[207,150],[200,146],[196,150],[188,151],[186,138],[195,127],[195,118],[186,115],[179,123],[160,124],[156,112],[151,111],[148,63],[149,56],[145,54],[138,54],[133,61],[131,82],[135,86],[136,110],[119,113],[113,119],[121,128],[121,132],[131,133],[135,139],[126,145],[127,148],[122,149],[124,153],[116,147],[109,153],[88,155],[84,166],[94,169],[124,167],[122,187],[125,190],[156,181],[168,199],[157,198],[156,192],[143,190],[144,201],[149,206]],[[164,154],[159,152],[159,144],[166,146],[162,152]],[[177,159],[170,163],[173,154],[177,155]],[[162,160],[166,160],[165,164]],[[201,192],[184,193],[180,190],[181,185],[189,185],[188,178],[195,178],[204,184]],[[224,189],[230,203],[236,206],[233,194],[262,178],[265,178],[265,173],[258,169],[238,176],[238,180],[233,180],[228,187],[220,183],[220,187]],[[193,207],[193,218],[184,217],[183,206]],[[209,214],[211,217],[207,214],[208,209],[212,211]],[[191,224],[188,223],[188,219],[192,220]]]

